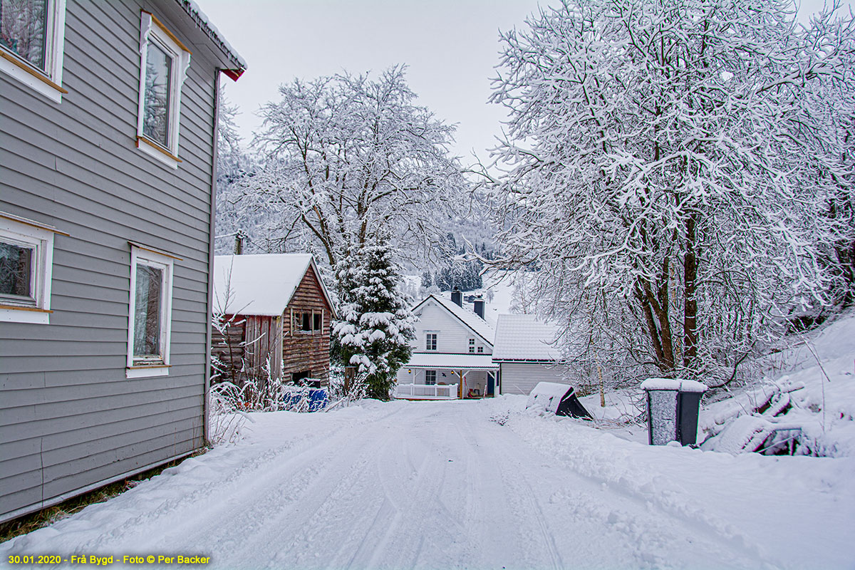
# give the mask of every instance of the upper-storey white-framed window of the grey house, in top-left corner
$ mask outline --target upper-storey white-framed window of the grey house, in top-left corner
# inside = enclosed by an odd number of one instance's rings
[[[0,71],[62,102],[65,0],[0,0]]]

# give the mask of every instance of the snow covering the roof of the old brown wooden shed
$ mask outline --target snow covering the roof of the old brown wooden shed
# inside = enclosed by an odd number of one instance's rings
[[[224,314],[278,316],[315,261],[307,253],[214,256],[214,309]],[[321,275],[315,267],[318,279]],[[330,302],[321,281],[321,291]]]

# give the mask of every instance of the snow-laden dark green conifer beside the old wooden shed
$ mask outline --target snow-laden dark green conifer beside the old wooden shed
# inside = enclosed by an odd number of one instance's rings
[[[345,297],[341,320],[333,324],[333,344],[345,365],[358,367],[368,397],[388,400],[398,368],[410,360],[415,335],[392,248],[386,240],[365,244],[339,262],[337,274]]]

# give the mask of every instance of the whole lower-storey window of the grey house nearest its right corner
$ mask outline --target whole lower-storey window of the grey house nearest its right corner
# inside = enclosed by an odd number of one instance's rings
[[[168,373],[176,259],[167,253],[131,244],[127,378]]]

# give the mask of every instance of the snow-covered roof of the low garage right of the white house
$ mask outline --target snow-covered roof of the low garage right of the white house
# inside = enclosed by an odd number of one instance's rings
[[[558,361],[561,352],[551,343],[557,327],[534,314],[499,314],[494,361]]]

